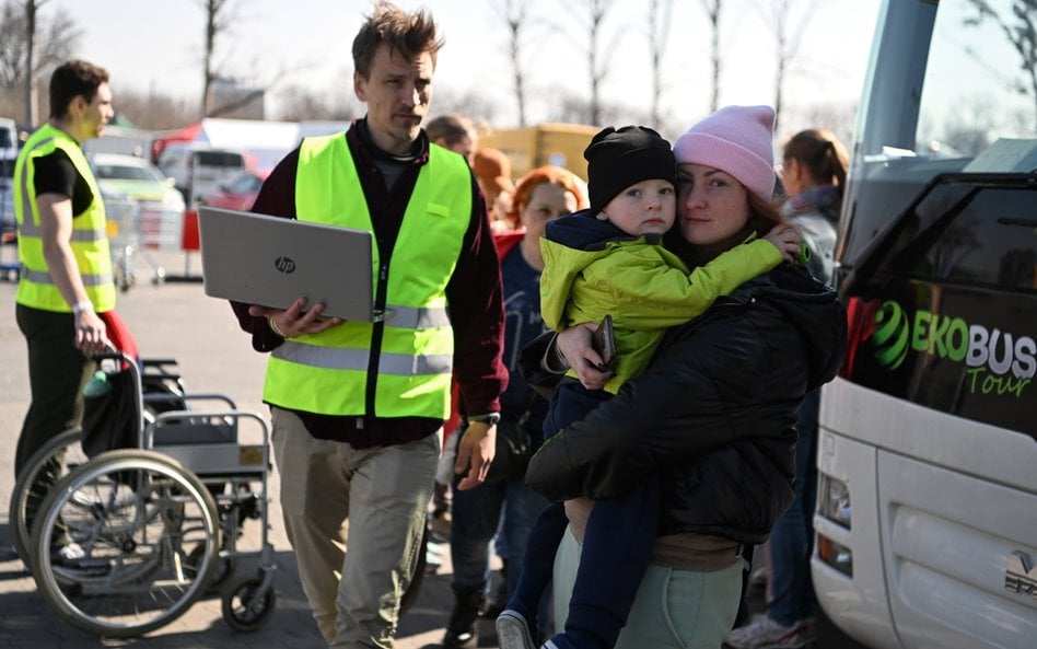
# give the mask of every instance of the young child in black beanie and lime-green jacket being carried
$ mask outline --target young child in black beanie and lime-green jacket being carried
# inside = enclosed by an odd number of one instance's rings
[[[583,418],[649,362],[667,327],[704,312],[749,279],[794,260],[794,233],[784,225],[713,262],[688,270],[661,239],[676,212],[676,162],[669,143],[650,128],[605,128],[584,151],[591,208],[548,223],[540,240],[541,315],[562,331],[611,315],[617,364],[603,390],[563,381],[544,422],[545,439]],[[575,375],[570,372],[571,375]],[[649,480],[624,498],[599,500],[586,521],[583,553],[566,630],[550,649],[611,647],[627,621],[654,544],[659,484]],[[531,629],[551,579],[568,526],[562,502],[548,506],[529,531],[518,586],[497,619],[501,649],[534,649]]]

